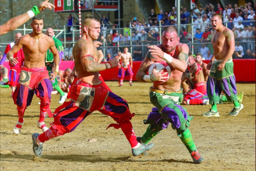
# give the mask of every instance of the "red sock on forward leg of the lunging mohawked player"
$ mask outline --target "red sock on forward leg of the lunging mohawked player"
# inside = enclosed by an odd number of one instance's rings
[[[126,136],[127,140],[131,144],[132,148],[137,146],[138,141],[136,140],[136,135],[133,131],[133,125],[132,123],[127,120],[127,121],[122,121],[119,123],[124,135]]]

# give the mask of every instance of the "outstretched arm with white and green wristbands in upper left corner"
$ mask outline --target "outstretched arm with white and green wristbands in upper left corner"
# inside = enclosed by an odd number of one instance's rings
[[[39,6],[34,6],[28,12],[18,15],[16,17],[13,17],[7,22],[5,22],[4,24],[2,24],[0,26],[0,35],[4,35],[7,32],[15,30],[16,28],[20,27],[22,24],[26,23],[33,16],[40,14],[40,12],[45,8],[49,8],[49,9],[52,9],[52,7],[55,8],[55,6],[52,3],[49,3],[48,1],[49,0],[42,2]]]

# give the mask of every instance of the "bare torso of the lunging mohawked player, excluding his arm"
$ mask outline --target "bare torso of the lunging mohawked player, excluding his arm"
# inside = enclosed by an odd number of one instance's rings
[[[81,63],[81,45],[92,45],[93,42],[88,42],[85,39],[79,39],[76,43],[75,46],[73,47],[73,57],[75,61],[75,69],[77,73],[77,77],[82,79],[83,81],[86,82],[91,82],[91,83],[98,83],[99,82],[99,71],[97,72],[87,72]],[[94,46],[94,44],[93,44]],[[93,49],[93,55],[94,58],[93,60],[95,62],[98,61],[99,59],[99,52],[97,51],[97,48],[94,46]]]

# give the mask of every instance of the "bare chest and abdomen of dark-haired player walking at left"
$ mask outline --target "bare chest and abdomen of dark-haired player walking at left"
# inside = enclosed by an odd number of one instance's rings
[[[45,34],[34,36],[27,34],[20,38],[25,55],[24,65],[27,68],[40,68],[45,66],[45,54],[51,46],[52,38]]]

